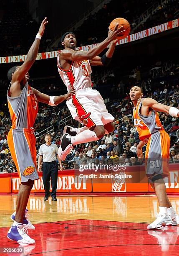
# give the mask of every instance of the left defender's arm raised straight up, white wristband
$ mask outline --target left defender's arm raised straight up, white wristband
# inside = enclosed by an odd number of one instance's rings
[[[17,71],[15,71],[15,73],[13,74],[12,84],[15,81],[21,82],[23,80],[23,78],[25,77],[25,74],[28,72],[30,67],[32,67],[33,63],[35,62],[35,59],[38,54],[40,38],[41,38],[41,36],[43,36],[44,30],[45,30],[45,25],[47,23],[48,23],[48,21],[47,21],[47,18],[45,17],[45,19],[42,21],[42,23],[40,25],[38,34],[35,37],[35,41],[33,42],[32,46],[30,47],[30,49],[28,51],[26,60],[24,61],[22,66],[20,66],[20,68],[17,69]]]

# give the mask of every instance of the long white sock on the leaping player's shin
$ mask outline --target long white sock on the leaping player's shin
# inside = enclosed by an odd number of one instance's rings
[[[71,137],[71,143],[73,146],[81,144],[81,143],[86,143],[90,141],[98,141],[99,138],[96,136],[96,133],[93,131],[90,131],[89,129],[86,131],[83,131],[76,136]]]

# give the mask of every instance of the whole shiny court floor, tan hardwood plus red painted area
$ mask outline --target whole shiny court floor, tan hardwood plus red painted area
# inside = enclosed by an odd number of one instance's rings
[[[16,196],[1,195],[0,247],[24,248],[9,255],[177,255],[179,226],[147,230],[157,214],[155,196],[60,195],[43,201],[30,195],[28,210],[35,245],[19,246],[6,238]],[[179,197],[170,196],[179,214]],[[5,254],[0,254],[5,255]],[[8,254],[6,254],[8,255]]]

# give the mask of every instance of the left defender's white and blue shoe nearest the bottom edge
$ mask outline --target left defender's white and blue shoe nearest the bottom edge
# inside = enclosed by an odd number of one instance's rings
[[[28,245],[28,244],[34,244],[35,240],[30,238],[28,236],[27,229],[23,227],[23,224],[19,224],[17,226],[11,226],[7,238],[9,238],[12,241],[18,242],[20,245]]]

